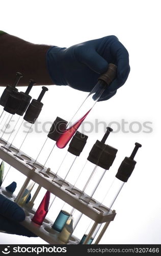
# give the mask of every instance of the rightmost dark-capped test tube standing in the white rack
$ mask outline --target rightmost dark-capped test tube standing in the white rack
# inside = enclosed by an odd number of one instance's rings
[[[105,205],[106,207],[108,207],[109,209],[112,208],[116,198],[118,197],[123,185],[125,184],[125,182],[127,182],[128,178],[131,176],[133,169],[135,168],[136,165],[136,161],[133,160],[133,158],[135,157],[139,147],[141,147],[142,145],[140,143],[135,143],[135,148],[133,149],[130,157],[125,157],[124,160],[122,161],[118,172],[115,176],[115,179],[112,183],[112,185],[110,186],[108,192],[106,193],[101,205]],[[100,205],[100,206],[101,206]],[[102,224],[98,224],[92,234],[92,237],[88,237],[88,234],[91,230],[91,228],[93,227],[93,225],[95,225],[94,221],[91,221],[89,227],[87,228],[86,233],[84,234],[84,236],[82,237],[80,244],[85,244],[86,242],[89,243],[94,240],[98,230],[100,229]],[[74,232],[73,232],[74,235]]]

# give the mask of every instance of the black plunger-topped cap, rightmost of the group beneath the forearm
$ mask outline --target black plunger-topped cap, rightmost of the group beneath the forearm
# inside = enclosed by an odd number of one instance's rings
[[[35,123],[36,119],[40,115],[40,112],[43,107],[43,103],[41,102],[45,92],[47,92],[48,89],[46,87],[42,87],[42,91],[38,97],[38,99],[33,99],[30,105],[28,106],[28,109],[26,110],[26,113],[23,117],[23,119],[29,123]]]

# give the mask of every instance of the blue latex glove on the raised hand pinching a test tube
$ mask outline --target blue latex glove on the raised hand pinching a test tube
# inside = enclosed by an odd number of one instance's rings
[[[117,65],[117,78],[100,100],[116,94],[130,72],[128,52],[114,35],[90,40],[69,48],[53,46],[46,54],[48,72],[54,84],[90,92],[108,63]]]

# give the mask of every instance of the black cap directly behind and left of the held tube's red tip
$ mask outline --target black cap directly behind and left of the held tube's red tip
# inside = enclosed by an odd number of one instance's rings
[[[65,131],[67,121],[57,116],[56,120],[52,123],[50,131],[47,135],[51,140],[57,141],[61,134]]]

